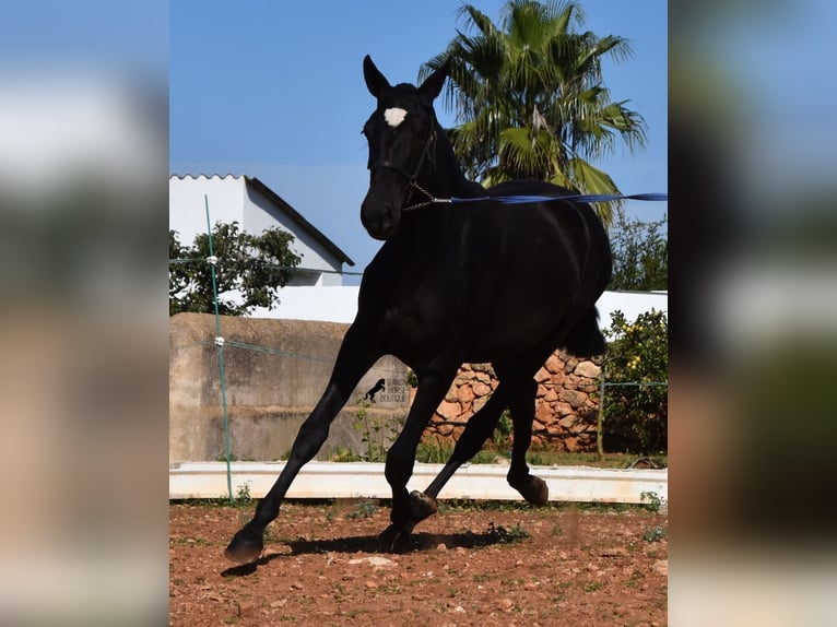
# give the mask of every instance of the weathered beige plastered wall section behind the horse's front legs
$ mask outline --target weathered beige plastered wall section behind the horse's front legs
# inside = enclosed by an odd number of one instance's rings
[[[271,461],[291,449],[299,426],[326,389],[349,324],[222,317],[231,450],[241,460]],[[213,461],[225,456],[224,412],[214,344],[215,317],[178,314],[169,319],[168,459]],[[241,345],[251,346],[243,347]],[[331,424],[317,459],[340,450],[362,454],[355,427],[358,403],[385,379],[367,412],[376,423],[403,419],[410,397],[406,368],[379,359],[361,379]]]

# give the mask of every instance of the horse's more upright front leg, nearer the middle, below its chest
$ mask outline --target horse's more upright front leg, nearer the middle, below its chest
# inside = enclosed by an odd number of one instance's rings
[[[406,483],[413,474],[415,450],[424,428],[445,398],[459,364],[428,368],[417,374],[418,388],[404,428],[387,452],[385,475],[392,488],[392,524],[381,534],[387,551],[401,551],[408,545],[415,524],[436,511],[432,498],[420,492],[409,494]]]

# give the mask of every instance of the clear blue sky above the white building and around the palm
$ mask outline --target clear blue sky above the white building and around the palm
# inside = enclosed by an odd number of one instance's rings
[[[472,2],[495,22],[502,0]],[[462,22],[459,2],[178,0],[169,14],[172,174],[258,177],[330,237],[362,271],[380,244],[359,223],[368,186],[361,128],[374,107],[362,61],[392,83],[415,82]],[[616,100],[648,125],[645,151],[599,163],[626,193],[668,191],[668,13],[661,0],[589,0],[585,28],[632,42],[604,68]],[[443,125],[452,121],[441,99]],[[668,203],[632,203],[659,218]],[[202,211],[202,208],[199,208]],[[347,281],[349,282],[349,281]]]

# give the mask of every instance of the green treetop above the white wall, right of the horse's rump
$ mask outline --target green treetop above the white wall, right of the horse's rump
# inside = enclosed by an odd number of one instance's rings
[[[617,212],[611,228],[613,277],[609,289],[649,292],[669,288],[667,220],[641,222]]]

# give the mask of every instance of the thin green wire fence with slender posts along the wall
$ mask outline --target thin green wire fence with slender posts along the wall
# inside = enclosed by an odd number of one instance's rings
[[[304,359],[304,360],[311,360],[311,362],[321,362],[321,363],[330,363],[334,364],[335,359],[325,359],[321,357],[315,357],[311,355],[304,355],[300,353],[294,353],[288,351],[282,351],[279,348],[273,348],[270,346],[260,346],[257,344],[248,344],[244,342],[237,342],[233,340],[226,340],[223,335],[222,328],[221,328],[221,314],[219,309],[219,289],[217,289],[217,280],[216,280],[216,267],[220,263],[254,263],[254,260],[236,260],[236,259],[219,259],[214,255],[213,250],[213,241],[212,241],[212,224],[210,218],[210,208],[209,208],[209,197],[204,194],[203,197],[204,201],[204,210],[207,215],[207,233],[209,237],[209,257],[205,259],[169,259],[169,264],[179,264],[179,263],[208,263],[211,269],[211,276],[212,276],[212,295],[213,295],[213,305],[214,305],[214,318],[215,318],[215,338],[212,342],[203,342],[201,345],[214,345],[217,347],[217,359],[219,359],[219,377],[220,377],[220,388],[221,388],[221,405],[222,405],[222,412],[223,412],[223,424],[224,424],[224,452],[225,452],[225,462],[226,462],[226,480],[227,480],[227,493],[229,498],[229,504],[234,505],[235,497],[233,494],[233,474],[232,474],[232,466],[231,462],[233,461],[233,451],[231,446],[231,436],[229,436],[229,413],[227,407],[227,386],[226,386],[226,374],[224,368],[224,348],[239,348],[245,351],[255,351],[255,352],[261,352],[270,355],[281,356],[281,357],[290,357],[294,359]],[[349,271],[341,271],[341,270],[322,270],[322,269],[310,269],[310,268],[298,268],[298,267],[287,267],[287,265],[278,265],[278,264],[271,264],[271,263],[264,263],[261,262],[263,267],[274,269],[274,270],[286,270],[291,272],[300,272],[300,273],[310,273],[310,272],[318,272],[318,273],[330,273],[330,274],[341,274],[346,276],[362,276],[363,272],[349,272]],[[380,370],[380,368],[379,368]],[[382,371],[388,371],[386,369],[382,369]],[[397,375],[401,375],[403,372],[393,372]],[[668,381],[606,381],[604,371],[602,370],[601,377],[600,377],[600,383],[599,383],[599,403],[598,403],[598,423],[597,423],[597,450],[600,456],[603,454],[602,450],[602,423],[603,423],[603,412],[604,412],[604,399],[605,399],[605,389],[606,388],[617,388],[617,387],[668,387]]]

